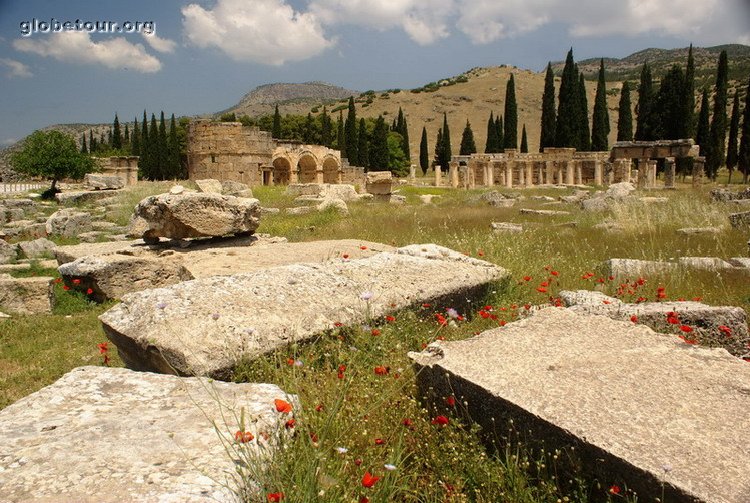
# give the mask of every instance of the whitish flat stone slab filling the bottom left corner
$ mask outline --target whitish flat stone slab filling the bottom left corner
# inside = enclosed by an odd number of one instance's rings
[[[74,369],[0,411],[0,499],[239,500],[243,460],[270,463],[284,434],[276,399],[298,406],[273,384]]]

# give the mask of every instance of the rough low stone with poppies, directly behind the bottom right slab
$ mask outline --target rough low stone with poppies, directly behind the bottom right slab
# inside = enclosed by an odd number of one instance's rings
[[[630,304],[590,290],[562,291],[560,299],[563,306],[579,314],[599,314],[631,322],[635,316],[637,323],[670,334],[685,335],[679,328],[685,325],[692,329],[688,336],[691,340],[723,347],[735,356],[748,352],[747,313],[741,307],[709,306],[695,301]],[[670,315],[675,323],[669,322]]]

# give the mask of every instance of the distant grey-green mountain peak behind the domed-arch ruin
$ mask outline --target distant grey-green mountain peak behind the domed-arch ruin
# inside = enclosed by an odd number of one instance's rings
[[[240,99],[239,103],[218,112],[216,115],[234,113],[236,115],[272,114],[275,106],[284,114],[306,114],[312,107],[349,98],[357,91],[344,89],[325,82],[304,82],[302,84],[266,84],[258,86]]]

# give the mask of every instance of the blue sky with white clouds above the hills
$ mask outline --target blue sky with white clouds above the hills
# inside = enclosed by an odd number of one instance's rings
[[[690,43],[750,45],[750,0],[0,0],[0,147],[274,82],[408,89]]]

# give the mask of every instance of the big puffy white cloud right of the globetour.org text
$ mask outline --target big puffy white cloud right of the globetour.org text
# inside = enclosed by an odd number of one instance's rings
[[[182,8],[187,39],[216,47],[235,61],[282,65],[316,56],[334,45],[312,12],[296,12],[284,0],[217,0],[213,9]]]

